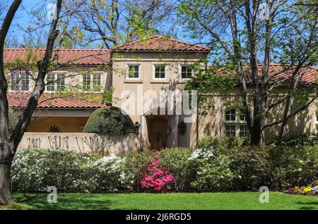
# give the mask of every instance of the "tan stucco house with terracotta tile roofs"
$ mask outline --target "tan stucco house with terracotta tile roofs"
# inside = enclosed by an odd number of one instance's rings
[[[25,58],[28,51],[6,49],[5,61],[10,63],[16,58]],[[43,50],[32,51],[38,56],[43,54]],[[237,89],[228,94],[217,91],[211,94],[210,104],[214,110],[205,116],[196,113],[195,105],[183,108],[187,104],[183,99],[187,97],[182,91],[187,80],[195,75],[192,66],[207,66],[208,54],[209,49],[204,46],[163,36],[129,42],[112,50],[59,49],[56,54],[59,68],[47,75],[46,91],[28,132],[59,131],[69,135],[82,132],[90,114],[105,106],[101,101],[102,92],[113,87],[112,106],[122,108],[139,127],[136,147],[193,147],[201,137],[247,137],[245,120],[237,115],[240,110]],[[281,65],[270,68],[271,73],[279,69]],[[317,83],[317,74],[317,68],[309,68],[304,75],[305,82]],[[11,74],[8,101],[17,114],[25,105],[32,86],[27,75]],[[85,91],[81,89],[80,94],[64,97],[58,94],[76,86],[84,86]],[[282,93],[283,90],[277,92],[277,97]],[[183,97],[179,98],[179,94]],[[275,111],[273,118],[281,108]],[[316,106],[313,105],[290,119],[287,130],[314,132],[317,124]],[[269,132],[277,132],[277,127]]]

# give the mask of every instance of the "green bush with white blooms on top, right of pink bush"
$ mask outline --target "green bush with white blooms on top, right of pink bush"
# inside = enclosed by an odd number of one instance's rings
[[[230,158],[210,147],[199,148],[189,157],[192,168],[192,187],[196,191],[225,191],[232,187],[234,174]]]

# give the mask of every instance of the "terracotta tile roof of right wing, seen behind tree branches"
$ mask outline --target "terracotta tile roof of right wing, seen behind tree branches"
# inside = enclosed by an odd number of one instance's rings
[[[212,66],[210,66],[211,68]],[[261,70],[263,69],[262,65],[259,65],[259,77],[261,77]],[[227,71],[222,68],[219,69],[218,73],[222,75],[226,75],[228,77],[233,77],[234,72]],[[291,77],[293,75],[293,71],[295,68],[288,68],[288,66],[283,66],[281,64],[271,64],[269,66],[269,79],[275,81],[275,80],[284,80],[288,79],[288,77]],[[248,80],[250,79],[251,70],[249,66],[245,66],[243,68],[243,71],[246,73]],[[312,85],[312,84],[318,84],[318,68],[310,67],[307,68],[307,70],[304,70],[304,74],[302,75],[302,83],[306,85]]]

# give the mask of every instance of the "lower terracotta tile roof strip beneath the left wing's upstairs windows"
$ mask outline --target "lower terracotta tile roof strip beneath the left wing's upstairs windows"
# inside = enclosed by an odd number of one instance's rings
[[[93,94],[93,96],[92,96]],[[30,92],[8,92],[8,104],[13,108],[22,108],[27,104]],[[93,99],[92,99],[93,98]],[[81,94],[81,96],[68,95],[61,97],[58,93],[44,92],[40,97],[37,108],[100,108],[105,104],[101,93]]]

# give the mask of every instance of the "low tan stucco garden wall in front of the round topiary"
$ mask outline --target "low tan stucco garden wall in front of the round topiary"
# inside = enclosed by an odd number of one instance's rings
[[[138,148],[135,134],[25,132],[18,149],[64,149],[78,152],[122,154]]]

